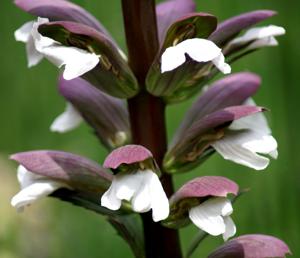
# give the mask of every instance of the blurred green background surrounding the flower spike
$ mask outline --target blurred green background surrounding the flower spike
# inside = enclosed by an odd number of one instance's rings
[[[111,31],[125,49],[120,1],[78,0]],[[261,75],[263,85],[255,97],[268,107],[273,134],[279,142],[279,159],[263,172],[222,160],[217,154],[189,174],[176,177],[176,186],[196,175],[224,175],[251,191],[236,204],[233,218],[238,234],[264,233],[285,240],[300,257],[300,114],[299,114],[299,10],[296,0],[197,1],[198,10],[223,20],[255,9],[273,9],[279,15],[267,23],[284,26],[287,35],[280,46],[254,53],[233,66],[233,71]],[[48,62],[27,69],[24,46],[13,32],[32,17],[10,0],[0,3],[0,257],[1,258],[93,258],[132,257],[129,248],[105,219],[92,212],[52,198],[17,214],[9,202],[18,191],[16,164],[8,161],[14,152],[58,149],[102,162],[106,152],[90,128],[83,125],[59,135],[49,131],[53,119],[64,109],[56,90],[57,69]],[[191,100],[192,101],[192,100]],[[191,101],[168,109],[169,136],[180,123]],[[193,226],[182,230],[183,248],[196,233]],[[222,242],[207,238],[193,257],[205,257]]]

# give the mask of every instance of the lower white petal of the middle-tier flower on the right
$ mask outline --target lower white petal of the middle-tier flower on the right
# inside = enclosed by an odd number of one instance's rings
[[[263,146],[264,144],[266,146]],[[275,148],[274,141],[270,141],[269,137],[250,130],[240,132],[228,130],[225,136],[214,142],[212,146],[224,159],[256,170],[265,169],[269,164],[269,159],[256,154],[256,151],[265,153],[268,150],[270,153]]]

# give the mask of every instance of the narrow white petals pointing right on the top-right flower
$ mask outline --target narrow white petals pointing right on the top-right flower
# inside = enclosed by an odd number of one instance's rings
[[[257,49],[261,47],[277,46],[276,36],[285,34],[283,27],[269,25],[266,27],[253,28],[248,30],[243,36],[235,38],[229,42],[230,46],[248,44],[246,50]]]

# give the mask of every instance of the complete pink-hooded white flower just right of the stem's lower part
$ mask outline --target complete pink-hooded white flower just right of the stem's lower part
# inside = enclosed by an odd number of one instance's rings
[[[237,195],[238,185],[225,177],[204,176],[184,184],[170,199],[169,227],[192,222],[210,235],[223,235],[224,240],[236,233],[230,218],[233,212],[228,194]]]

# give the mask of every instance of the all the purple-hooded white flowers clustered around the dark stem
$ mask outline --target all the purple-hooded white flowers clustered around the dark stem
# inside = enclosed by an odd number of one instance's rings
[[[266,109],[252,100],[260,78],[242,72],[210,82],[219,72],[231,73],[232,63],[239,58],[278,44],[275,37],[285,33],[282,27],[251,28],[275,13],[254,11],[218,23],[211,14],[197,13],[193,0],[159,4],[160,49],[142,89],[126,55],[86,10],[65,0],[15,3],[37,17],[15,32],[16,40],[26,44],[28,67],[45,58],[64,69],[58,86],[67,106],[51,131],[64,133],[85,121],[110,154],[103,166],[59,151],[12,155],[20,164],[22,190],[11,204],[21,211],[53,195],[109,216],[111,221],[152,210],[153,221],[164,227],[179,229],[193,223],[212,236],[223,235],[224,241],[233,237],[237,229],[230,217],[232,196],[239,195],[235,182],[220,176],[197,177],[167,196],[160,178],[189,171],[215,152],[256,170],[265,169],[269,157],[277,158],[277,142],[263,114]],[[124,102],[145,90],[166,104],[201,92],[162,164],[157,164],[150,150],[134,144]],[[209,257],[240,257],[236,255],[241,253],[243,257],[285,257],[289,250],[278,239],[246,235],[226,242]]]

